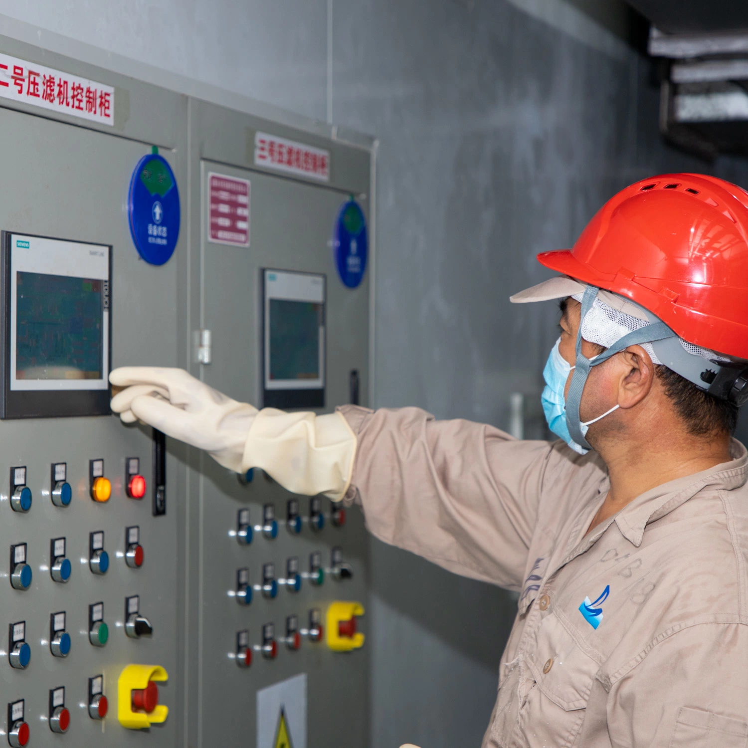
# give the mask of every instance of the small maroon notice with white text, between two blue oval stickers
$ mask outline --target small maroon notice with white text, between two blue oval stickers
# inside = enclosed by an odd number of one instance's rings
[[[208,174],[209,241],[249,246],[249,195],[249,180]]]

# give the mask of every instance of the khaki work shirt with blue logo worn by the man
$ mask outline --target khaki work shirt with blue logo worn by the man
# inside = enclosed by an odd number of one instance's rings
[[[418,408],[340,412],[378,539],[519,593],[483,748],[748,745],[748,454],[586,535],[599,456]],[[463,747],[459,747],[463,748]]]

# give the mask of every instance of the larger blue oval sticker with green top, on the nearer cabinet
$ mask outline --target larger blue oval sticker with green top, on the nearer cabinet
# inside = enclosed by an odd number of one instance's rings
[[[132,172],[127,211],[138,254],[163,265],[180,236],[180,192],[171,166],[158,153],[143,156]]]

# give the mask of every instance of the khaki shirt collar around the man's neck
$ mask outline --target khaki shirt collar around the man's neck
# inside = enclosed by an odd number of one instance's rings
[[[614,521],[622,535],[638,548],[647,524],[677,509],[703,488],[712,486],[726,491],[740,488],[748,479],[748,451],[737,439],[733,439],[730,443],[730,455],[730,462],[663,483],[635,498],[615,517]]]

